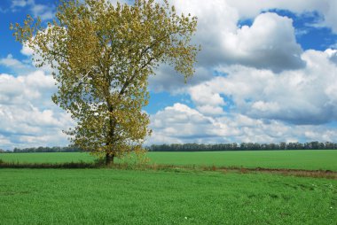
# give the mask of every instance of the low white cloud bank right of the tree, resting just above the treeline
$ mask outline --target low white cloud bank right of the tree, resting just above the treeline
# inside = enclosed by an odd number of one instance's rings
[[[153,136],[147,144],[333,142],[337,128],[293,125],[250,118],[240,113],[210,117],[187,105],[175,104],[151,115]]]

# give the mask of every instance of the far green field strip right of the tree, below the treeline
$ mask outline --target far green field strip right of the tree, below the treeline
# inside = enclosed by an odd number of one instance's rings
[[[337,171],[337,151],[149,152],[158,164]]]

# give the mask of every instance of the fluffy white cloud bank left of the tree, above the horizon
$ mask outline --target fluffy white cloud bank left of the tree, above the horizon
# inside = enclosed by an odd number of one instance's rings
[[[0,148],[68,144],[62,129],[74,125],[66,112],[51,102],[56,90],[43,71],[21,76],[0,74]]]

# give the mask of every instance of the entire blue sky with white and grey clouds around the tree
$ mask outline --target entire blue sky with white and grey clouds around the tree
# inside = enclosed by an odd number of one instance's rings
[[[9,30],[52,19],[56,2],[0,1],[2,149],[68,144],[74,121],[51,102],[50,69]],[[198,17],[202,50],[187,84],[166,65],[149,78],[146,144],[337,142],[337,0],[169,2]]]

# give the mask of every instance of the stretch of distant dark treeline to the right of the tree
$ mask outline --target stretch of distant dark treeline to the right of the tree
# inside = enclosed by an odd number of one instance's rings
[[[148,151],[249,151],[249,150],[331,150],[337,149],[336,143],[231,143],[231,144],[153,144]]]

